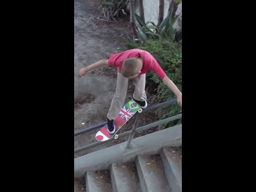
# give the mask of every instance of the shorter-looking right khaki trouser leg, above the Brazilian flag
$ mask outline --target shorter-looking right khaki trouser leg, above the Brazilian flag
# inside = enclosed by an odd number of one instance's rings
[[[146,74],[139,75],[133,78],[132,81],[133,85],[135,86],[133,99],[137,101],[145,101],[147,100],[147,95],[145,91],[146,86]],[[140,105],[140,103],[139,103]],[[146,108],[147,106],[145,106]]]

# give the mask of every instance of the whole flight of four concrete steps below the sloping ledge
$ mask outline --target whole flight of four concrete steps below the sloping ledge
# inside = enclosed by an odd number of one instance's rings
[[[159,154],[138,155],[135,162],[112,163],[109,170],[86,171],[86,191],[181,192],[181,160],[172,152],[163,147]]]

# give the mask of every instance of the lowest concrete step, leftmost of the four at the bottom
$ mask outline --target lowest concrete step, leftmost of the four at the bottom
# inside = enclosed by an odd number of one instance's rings
[[[111,192],[109,171],[87,171],[86,192]]]

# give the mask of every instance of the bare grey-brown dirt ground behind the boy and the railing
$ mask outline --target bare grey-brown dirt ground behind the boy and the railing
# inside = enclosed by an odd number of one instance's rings
[[[98,18],[102,8],[101,0],[74,0],[74,131],[86,129],[106,121],[108,109],[116,89],[117,69],[102,67],[89,71],[79,78],[79,69],[89,66],[101,59],[108,59],[115,54],[118,47],[124,47],[127,37],[131,37],[129,17],[110,21]],[[132,97],[134,87],[129,82],[125,103]],[[153,105],[154,99],[148,93],[148,105]],[[139,126],[153,123],[157,116],[152,113],[141,115]],[[132,128],[134,119],[130,119],[120,133]],[[136,133],[134,138],[161,129],[153,127],[147,131]],[[96,142],[95,134],[99,129],[74,137],[74,148],[79,148]],[[116,143],[127,141],[127,137],[118,138],[91,149],[74,154],[74,158],[107,148]],[[75,191],[85,191],[85,180],[75,179]]]

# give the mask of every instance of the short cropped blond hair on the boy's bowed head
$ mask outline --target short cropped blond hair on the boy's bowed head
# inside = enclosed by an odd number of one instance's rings
[[[136,58],[126,59],[121,70],[122,75],[126,78],[137,75],[140,70],[140,61]]]

